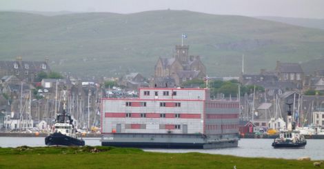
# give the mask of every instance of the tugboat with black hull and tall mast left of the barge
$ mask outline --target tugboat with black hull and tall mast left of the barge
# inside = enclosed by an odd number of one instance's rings
[[[77,131],[73,125],[73,119],[65,112],[65,90],[63,111],[57,115],[52,133],[45,137],[45,145],[47,146],[84,146],[83,139],[78,139],[75,132]]]

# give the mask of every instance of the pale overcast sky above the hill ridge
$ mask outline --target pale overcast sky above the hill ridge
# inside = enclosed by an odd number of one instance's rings
[[[0,10],[133,13],[168,8],[252,17],[324,19],[324,0],[0,0]]]

